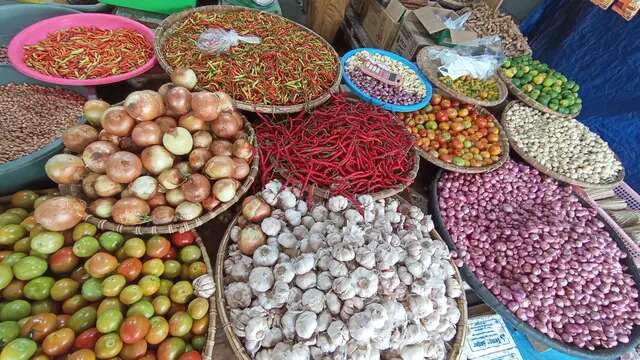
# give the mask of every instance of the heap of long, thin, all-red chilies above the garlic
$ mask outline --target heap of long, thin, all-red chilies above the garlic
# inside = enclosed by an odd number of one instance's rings
[[[286,121],[260,117],[263,184],[276,175],[352,197],[413,181],[413,140],[385,110],[340,95]]]

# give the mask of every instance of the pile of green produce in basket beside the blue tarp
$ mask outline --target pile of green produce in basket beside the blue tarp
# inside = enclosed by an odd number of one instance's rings
[[[501,71],[528,97],[553,111],[572,115],[582,109],[582,99],[578,96],[580,86],[530,55],[505,61]]]

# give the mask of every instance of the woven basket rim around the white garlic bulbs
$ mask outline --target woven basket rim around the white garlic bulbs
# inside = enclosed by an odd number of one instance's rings
[[[404,199],[399,198],[401,201],[405,201]],[[220,322],[222,323],[222,328],[224,329],[225,334],[227,335],[227,340],[229,341],[229,345],[236,355],[237,359],[241,360],[251,360],[251,356],[247,353],[244,348],[242,341],[238,338],[238,336],[233,331],[231,326],[231,322],[229,320],[229,314],[227,311],[226,300],[224,298],[224,260],[227,257],[227,248],[229,246],[229,242],[231,240],[231,229],[238,221],[238,217],[240,214],[236,215],[236,217],[231,221],[227,231],[222,238],[222,242],[220,243],[220,247],[218,248],[218,255],[216,259],[216,271],[215,271],[215,282],[216,282],[216,302],[218,304],[218,309],[220,311]],[[442,240],[437,231],[433,230],[431,232],[431,236],[434,239]],[[462,287],[462,277],[458,271],[458,268],[454,265],[455,270],[455,278],[460,283]],[[467,298],[465,296],[464,291],[462,295],[457,300],[458,309],[460,310],[460,321],[458,322],[456,329],[456,336],[450,343],[448,360],[457,360],[460,358],[462,350],[464,349],[464,342],[467,334]]]

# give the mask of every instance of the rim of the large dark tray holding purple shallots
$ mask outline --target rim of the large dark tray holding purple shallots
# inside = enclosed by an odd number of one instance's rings
[[[445,225],[440,213],[438,182],[440,181],[442,173],[442,170],[438,170],[436,176],[433,178],[430,184],[428,201],[429,209],[436,230],[440,233],[440,235],[442,235],[442,238],[447,246],[449,246],[449,249],[451,251],[457,251],[457,247],[453,240],[451,240],[451,236],[449,235],[447,226]],[[574,192],[574,194],[576,194],[576,196],[580,198],[577,193]],[[580,201],[583,205],[589,206],[588,203],[586,203],[582,198],[580,198]],[[615,241],[618,247],[620,247],[620,249],[625,253],[628,253],[627,247],[624,245],[624,242],[618,236],[615,230],[613,230],[606,221],[603,221],[602,218],[600,218],[600,220],[604,223],[604,229],[611,235],[611,238]],[[627,267],[627,272],[633,276],[633,279],[636,282],[636,286],[639,286],[638,284],[640,284],[640,272],[638,271],[638,268],[633,262],[631,256],[627,256],[623,260],[623,264]],[[620,344],[612,349],[599,348],[591,351],[551,339],[531,325],[518,319],[504,304],[502,304],[491,293],[489,289],[484,286],[482,282],[480,282],[480,280],[478,280],[473,272],[469,270],[467,265],[462,266],[462,268],[460,269],[460,273],[462,275],[462,278],[467,282],[467,284],[469,284],[469,286],[482,299],[482,301],[489,305],[496,313],[500,314],[500,316],[502,316],[513,327],[515,327],[516,330],[548,347],[557,349],[572,356],[576,356],[578,359],[617,359],[618,357],[620,357],[620,355],[634,350],[638,343],[640,343],[640,326],[635,326],[633,328],[631,336],[629,337],[629,343]]]

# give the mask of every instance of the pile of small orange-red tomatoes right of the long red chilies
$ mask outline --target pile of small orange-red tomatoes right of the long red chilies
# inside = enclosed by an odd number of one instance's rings
[[[434,94],[424,109],[398,117],[415,137],[416,146],[455,166],[491,165],[506,151],[493,117],[471,104]]]

